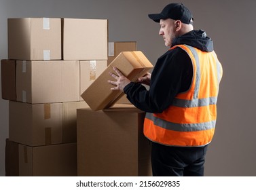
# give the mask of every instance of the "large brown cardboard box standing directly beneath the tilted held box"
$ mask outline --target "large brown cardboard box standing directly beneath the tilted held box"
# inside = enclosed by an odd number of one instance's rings
[[[104,111],[77,109],[77,175],[151,176],[144,117],[126,104]]]

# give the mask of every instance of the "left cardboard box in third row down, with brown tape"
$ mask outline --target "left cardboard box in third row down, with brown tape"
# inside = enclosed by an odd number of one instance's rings
[[[62,104],[10,101],[9,138],[31,147],[62,143]]]

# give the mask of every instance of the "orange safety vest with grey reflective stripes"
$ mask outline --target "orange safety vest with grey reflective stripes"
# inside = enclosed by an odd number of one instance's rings
[[[146,113],[144,134],[162,145],[200,147],[213,139],[217,118],[217,96],[222,67],[215,52],[202,52],[189,45],[182,48],[193,64],[187,92],[179,93],[162,113]]]

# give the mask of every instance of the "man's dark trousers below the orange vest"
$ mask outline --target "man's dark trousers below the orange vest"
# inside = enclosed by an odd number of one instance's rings
[[[153,176],[204,176],[204,147],[170,147],[152,142]]]

